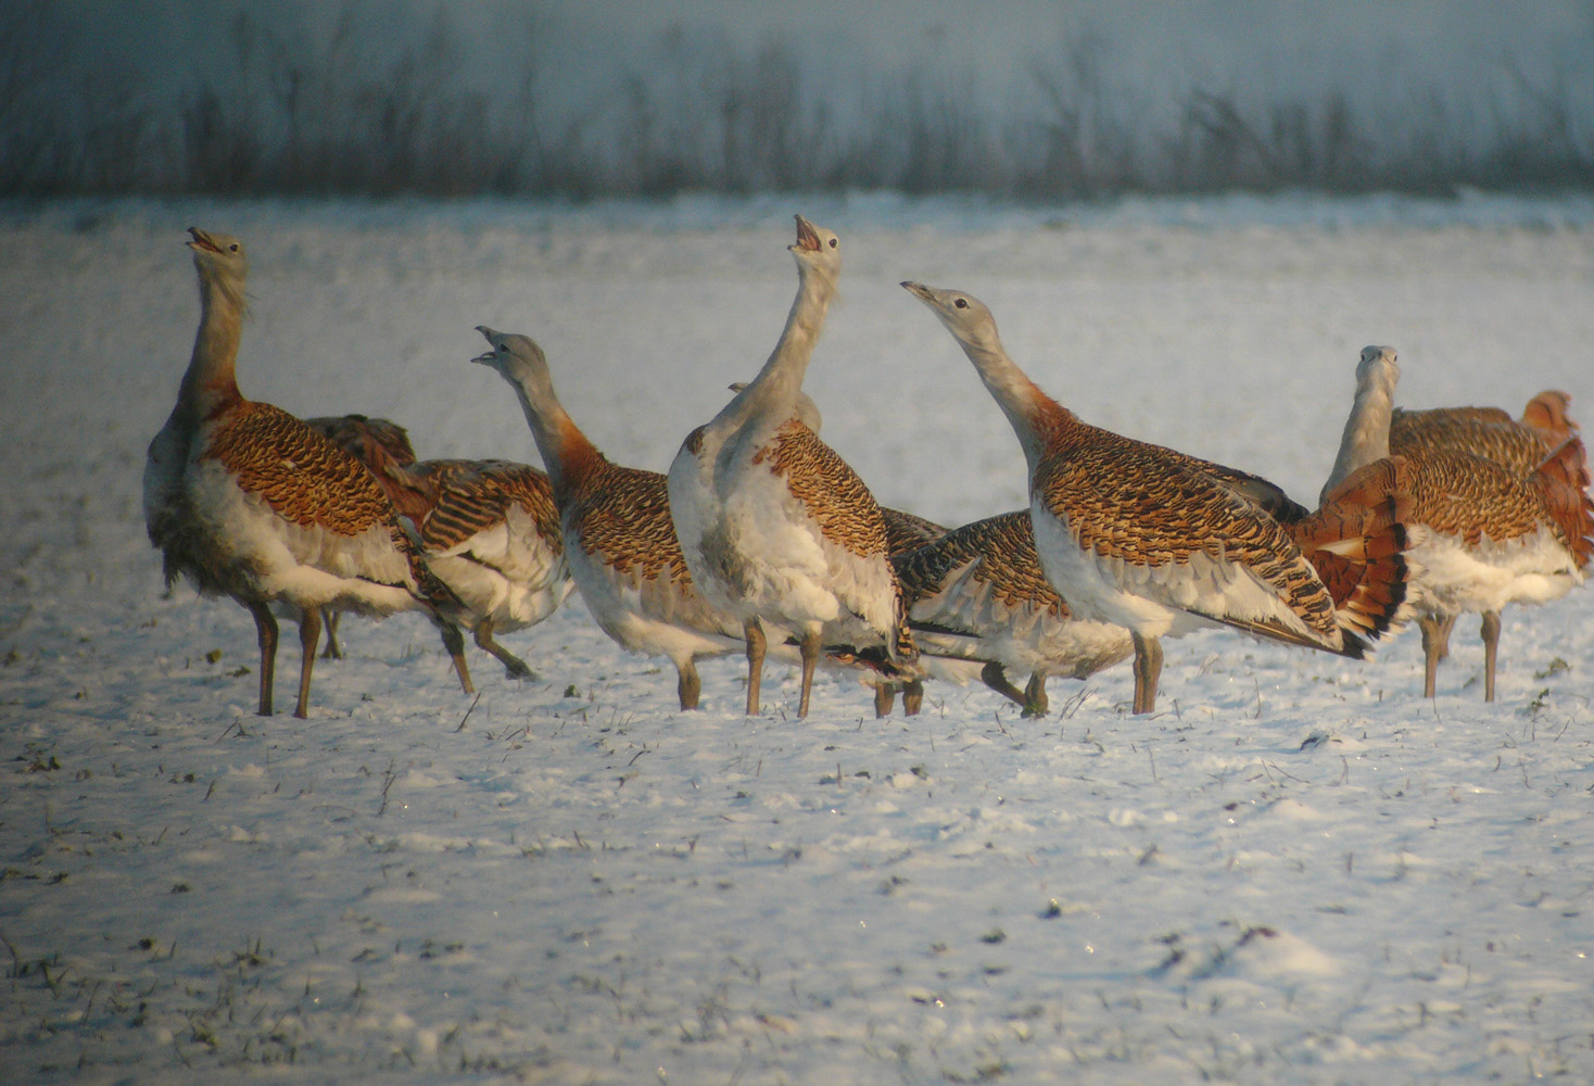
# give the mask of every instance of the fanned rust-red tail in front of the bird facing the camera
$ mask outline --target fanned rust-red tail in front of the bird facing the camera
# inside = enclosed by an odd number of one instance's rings
[[[1406,550],[1420,534],[1408,526],[1412,509],[1406,459],[1390,456],[1352,472],[1315,513],[1290,525],[1347,638],[1377,639],[1404,622],[1415,573]]]

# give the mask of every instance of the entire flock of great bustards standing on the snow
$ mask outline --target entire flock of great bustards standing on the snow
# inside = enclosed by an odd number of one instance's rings
[[[510,676],[532,670],[496,635],[553,614],[572,585],[631,652],[668,657],[698,703],[700,657],[744,652],[759,713],[767,654],[856,671],[889,713],[923,679],[980,679],[1044,713],[1049,676],[1133,657],[1133,711],[1156,706],[1160,639],[1219,624],[1363,659],[1408,617],[1425,695],[1457,616],[1482,616],[1494,698],[1500,609],[1581,584],[1594,504],[1567,395],[1403,411],[1395,351],[1371,346],[1339,458],[1307,510],[1264,478],[1090,426],[1003,349],[976,298],[902,285],[947,327],[1007,416],[1030,509],[947,529],[875,504],[819,439],[802,381],[840,273],[840,242],[797,215],[799,289],[759,373],[685,437],[662,475],[611,462],[559,405],[542,349],[480,327],[520,399],[544,470],[416,461],[405,431],[363,416],[300,419],[234,380],[244,247],[190,230],[201,317],[177,405],[150,443],[143,506],[166,580],[249,608],[271,713],[277,616],[298,622],[295,714],[322,628],[343,611],[421,611],[465,692],[464,632]],[[1025,679],[1025,676],[1028,676]],[[1020,689],[1014,679],[1025,681]]]

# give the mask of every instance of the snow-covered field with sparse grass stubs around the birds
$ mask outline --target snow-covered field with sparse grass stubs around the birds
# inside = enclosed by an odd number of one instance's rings
[[[1084,418],[1312,501],[1361,346],[1400,400],[1545,388],[1594,423],[1594,204],[1014,211],[846,201],[0,207],[0,1081],[1594,1081],[1589,588],[1350,663],[1203,633],[1019,719],[874,719],[740,660],[676,710],[579,598],[464,697],[416,617],[351,620],[309,721],[253,627],[161,595],[148,439],[198,321],[183,228],[239,234],[239,383],[422,456],[536,462],[489,324],[663,470],[768,354],[791,214],[846,252],[807,389],[885,504],[1023,506],[972,368],[896,284],[985,300]],[[296,638],[284,633],[279,705]]]

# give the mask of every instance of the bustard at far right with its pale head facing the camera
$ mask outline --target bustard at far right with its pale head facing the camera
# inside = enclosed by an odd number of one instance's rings
[[[1393,348],[1363,348],[1356,397],[1325,490],[1349,472],[1387,456],[1395,443]],[[1412,579],[1422,630],[1423,697],[1435,695],[1439,660],[1463,612],[1482,616],[1484,700],[1495,697],[1500,609],[1548,603],[1583,582],[1594,553],[1594,504],[1580,485],[1583,442],[1575,435],[1538,454],[1537,440],[1492,408],[1404,413],[1401,456],[1408,462],[1412,520],[1428,528],[1412,549],[1423,573]],[[1479,451],[1468,451],[1479,450]],[[1521,470],[1524,466],[1527,470]]]

